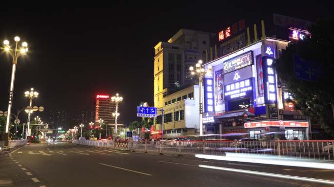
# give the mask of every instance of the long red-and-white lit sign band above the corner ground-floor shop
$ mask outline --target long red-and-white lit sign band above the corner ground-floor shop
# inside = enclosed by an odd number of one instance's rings
[[[245,128],[256,127],[309,127],[309,123],[306,121],[259,121],[259,122],[247,122],[244,124]]]

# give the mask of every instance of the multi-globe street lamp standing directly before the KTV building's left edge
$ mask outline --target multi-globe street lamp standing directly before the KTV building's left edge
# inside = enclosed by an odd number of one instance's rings
[[[189,67],[189,70],[191,72],[191,75],[197,75],[198,76],[198,82],[199,82],[199,104],[200,104],[200,136],[203,136],[203,121],[202,121],[202,116],[203,116],[203,101],[202,101],[202,83],[203,83],[203,77],[207,73],[211,73],[212,67],[209,66],[209,69],[206,71],[204,68],[202,68],[202,60],[198,60],[198,63],[196,64],[196,70],[192,66]]]

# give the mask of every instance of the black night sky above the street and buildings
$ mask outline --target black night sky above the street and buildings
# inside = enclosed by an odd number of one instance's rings
[[[158,2],[158,1],[156,1]],[[160,1],[159,1],[160,2]],[[224,1],[188,1],[157,4],[114,4],[100,9],[3,9],[0,40],[28,42],[29,54],[19,59],[13,112],[26,107],[24,92],[33,87],[40,93],[33,106],[47,120],[49,110],[94,111],[95,95],[119,93],[120,119],[140,120],[136,106],[153,105],[154,46],[167,41],[179,29],[218,32],[247,19],[259,23],[273,12],[315,21],[332,15],[330,6],[293,1],[270,4],[227,4]],[[275,5],[279,2],[281,5]],[[205,4],[208,3],[208,4]],[[272,15],[271,15],[272,16]],[[0,110],[7,110],[11,59],[0,56]],[[26,122],[26,115],[20,118]]]

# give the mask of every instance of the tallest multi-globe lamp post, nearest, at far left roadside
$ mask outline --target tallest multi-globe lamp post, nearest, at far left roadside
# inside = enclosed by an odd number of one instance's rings
[[[18,58],[20,56],[25,55],[28,52],[28,43],[27,42],[22,42],[22,47],[19,47],[19,41],[20,41],[20,37],[14,37],[15,40],[15,47],[11,48],[11,46],[9,45],[9,41],[8,40],[4,40],[3,41],[3,50],[8,53],[10,56],[12,56],[13,58],[13,67],[12,67],[12,76],[10,79],[10,87],[9,87],[9,100],[8,100],[8,113],[9,115],[7,115],[7,120],[6,120],[6,130],[5,130],[5,137],[4,137],[4,141],[5,141],[5,145],[8,145],[8,137],[9,137],[9,133],[8,133],[8,129],[9,129],[9,122],[10,122],[10,113],[12,112],[12,104],[13,104],[13,92],[14,92],[14,79],[15,79],[15,70],[16,70],[16,65],[18,63]],[[18,49],[20,48],[20,49]]]

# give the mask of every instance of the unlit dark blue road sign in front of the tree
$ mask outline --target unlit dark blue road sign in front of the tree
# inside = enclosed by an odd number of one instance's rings
[[[298,55],[293,55],[294,62],[294,77],[316,82],[321,75],[321,70],[319,66],[306,60]]]

